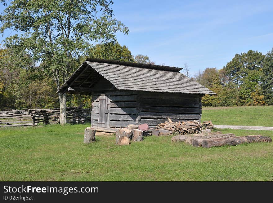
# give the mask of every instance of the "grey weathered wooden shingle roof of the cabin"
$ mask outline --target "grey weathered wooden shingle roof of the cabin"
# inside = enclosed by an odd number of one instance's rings
[[[87,59],[58,91],[64,93],[77,80],[77,75],[85,75],[82,72],[88,68],[94,69],[119,90],[216,95],[179,73],[182,68],[98,59]]]

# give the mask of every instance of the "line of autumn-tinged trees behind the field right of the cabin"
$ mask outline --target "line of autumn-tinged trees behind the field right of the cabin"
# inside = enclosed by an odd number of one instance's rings
[[[273,48],[235,54],[222,69],[206,68],[192,79],[217,93],[205,95],[204,106],[273,105]]]

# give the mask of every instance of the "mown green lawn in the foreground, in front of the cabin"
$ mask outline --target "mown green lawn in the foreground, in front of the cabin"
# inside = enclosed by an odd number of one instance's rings
[[[113,135],[100,135],[86,145],[87,126],[1,129],[0,181],[273,181],[272,143],[205,149],[151,136],[116,146]],[[222,132],[273,138],[273,131]]]

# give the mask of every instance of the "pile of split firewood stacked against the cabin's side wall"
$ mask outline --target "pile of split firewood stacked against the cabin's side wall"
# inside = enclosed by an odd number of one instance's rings
[[[213,128],[211,121],[204,121],[200,123],[199,121],[178,121],[173,122],[170,118],[164,123],[159,123],[154,130],[154,134],[199,134],[199,133],[209,133]],[[158,131],[158,132],[156,132]]]

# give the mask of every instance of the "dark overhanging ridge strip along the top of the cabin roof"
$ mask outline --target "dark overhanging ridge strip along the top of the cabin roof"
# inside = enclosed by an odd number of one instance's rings
[[[183,68],[178,68],[178,67],[174,67],[174,66],[140,64],[140,63],[134,63],[134,62],[129,62],[129,61],[106,60],[106,59],[96,59],[96,58],[87,58],[86,61],[97,62],[97,63],[106,63],[106,64],[118,64],[118,65],[132,66],[132,67],[138,67],[138,68],[148,68],[148,69],[154,69],[154,70],[166,70],[166,71],[171,71],[171,72],[179,72],[183,69]]]

